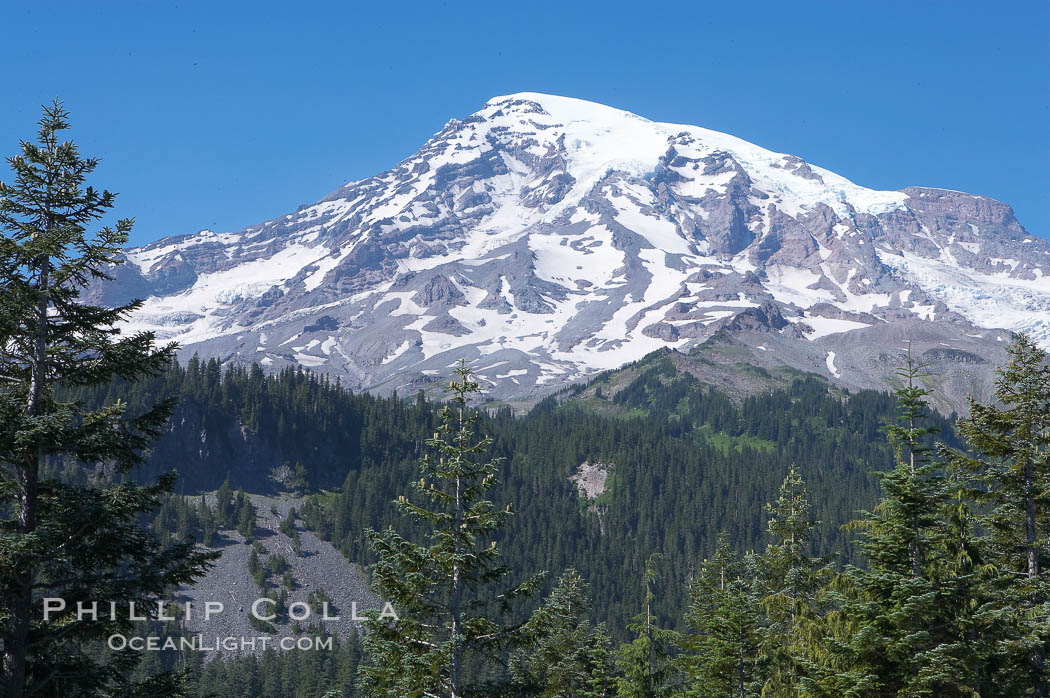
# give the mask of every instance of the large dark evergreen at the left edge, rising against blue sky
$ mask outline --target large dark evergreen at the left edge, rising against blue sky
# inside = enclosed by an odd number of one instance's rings
[[[120,336],[138,308],[84,302],[81,292],[107,278],[130,219],[91,234],[113,194],[85,188],[98,164],[60,141],[68,114],[44,107],[37,143],[8,158],[13,184],[0,184],[0,680],[8,696],[116,695],[130,691],[131,653],[104,654],[96,643],[127,631],[126,619],[78,619],[78,601],[139,601],[187,584],[208,555],[190,544],[162,550],[139,525],[158,506],[173,474],[153,485],[122,482],[159,436],[169,404],[128,417],[116,402],[87,409],[61,390],[159,373],[174,346],[158,350],[150,333]],[[98,466],[74,486],[47,477]],[[43,597],[66,610],[43,618]],[[151,681],[163,692],[162,679]],[[174,691],[174,688],[170,688]]]

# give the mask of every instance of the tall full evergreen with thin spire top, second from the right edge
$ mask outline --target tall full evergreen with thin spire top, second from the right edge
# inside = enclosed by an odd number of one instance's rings
[[[811,684],[832,694],[972,695],[978,570],[963,564],[958,544],[968,538],[968,520],[953,514],[954,490],[931,458],[937,429],[926,423],[922,371],[909,347],[899,420],[886,427],[896,466],[879,473],[884,494],[875,510],[850,525],[862,533],[867,566],[847,567],[839,580],[848,634],[831,640],[825,667],[835,669]]]

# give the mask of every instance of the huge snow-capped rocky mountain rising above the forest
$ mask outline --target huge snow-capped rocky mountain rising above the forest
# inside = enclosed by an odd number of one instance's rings
[[[465,357],[495,397],[534,396],[719,330],[855,385],[880,384],[873,366],[912,337],[982,361],[998,330],[1050,346],[1050,246],[1000,202],[875,191],[724,133],[528,92],[294,213],[127,258],[94,294],[146,298],[133,329],[381,390]]]

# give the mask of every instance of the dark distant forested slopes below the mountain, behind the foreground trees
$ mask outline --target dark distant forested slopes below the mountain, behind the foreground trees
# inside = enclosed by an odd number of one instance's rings
[[[494,500],[517,508],[500,536],[512,568],[575,568],[592,585],[596,617],[622,629],[640,600],[632,580],[660,552],[670,592],[660,605],[670,612],[680,608],[680,583],[714,551],[719,531],[730,531],[740,551],[763,544],[764,503],[793,465],[818,493],[823,523],[815,545],[845,550],[840,525],[873,505],[870,470],[891,463],[881,431],[894,419],[891,396],[844,396],[808,377],[733,401],[676,374],[666,358],[651,363],[609,400],[633,416],[596,413],[565,396],[524,417],[507,409],[483,415],[479,431],[492,438],[490,454],[503,459]],[[141,474],[176,469],[185,494],[227,479],[248,491],[294,489],[264,468],[287,464],[294,477],[301,465],[306,489],[315,492],[300,508],[306,525],[365,564],[365,530],[405,524],[391,502],[415,479],[439,408],[419,396],[352,394],[303,371],[267,376],[257,366],[223,371],[196,359],[80,397],[123,400],[132,411],[174,397],[169,431]],[[949,420],[937,420],[950,435]],[[231,472],[243,428],[269,460],[256,471]],[[223,443],[231,433],[237,441]],[[593,502],[569,482],[585,461],[611,464],[608,489]]]

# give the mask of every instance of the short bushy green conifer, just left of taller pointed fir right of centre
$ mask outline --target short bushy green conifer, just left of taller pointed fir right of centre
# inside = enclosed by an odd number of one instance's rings
[[[690,586],[687,695],[760,695],[763,629],[756,576],[754,555],[738,557],[729,547],[729,536],[720,534],[714,556],[704,560]]]

